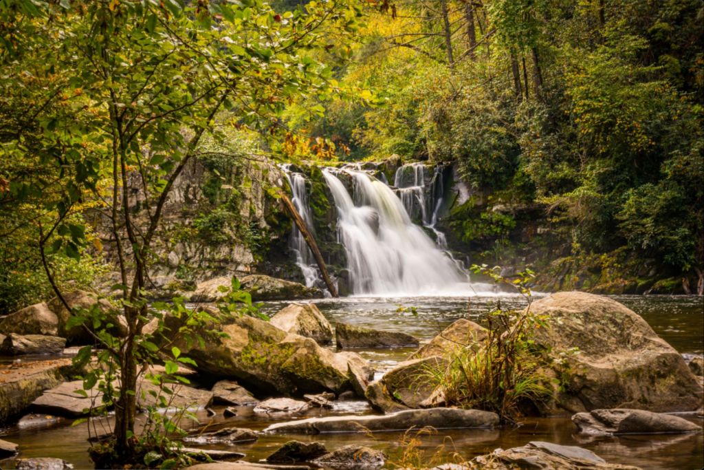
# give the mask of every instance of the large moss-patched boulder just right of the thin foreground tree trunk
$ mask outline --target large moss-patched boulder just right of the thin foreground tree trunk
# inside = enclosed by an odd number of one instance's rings
[[[310,338],[286,333],[271,323],[241,316],[220,325],[227,336],[199,342],[179,340],[178,347],[194,359],[201,373],[236,380],[253,392],[302,396],[351,388],[351,361],[323,349]],[[180,320],[169,318],[177,330]],[[205,333],[205,332],[201,332]]]

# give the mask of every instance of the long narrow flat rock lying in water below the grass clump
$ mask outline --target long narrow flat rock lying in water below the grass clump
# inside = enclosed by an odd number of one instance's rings
[[[265,433],[365,433],[368,431],[405,431],[415,426],[436,429],[493,428],[498,426],[496,413],[477,409],[412,409],[384,416],[327,416],[275,423]]]

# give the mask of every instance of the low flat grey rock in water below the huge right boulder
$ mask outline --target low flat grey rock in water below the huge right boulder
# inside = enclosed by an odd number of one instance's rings
[[[672,414],[642,409],[594,409],[572,416],[580,433],[592,435],[693,433],[702,428]]]

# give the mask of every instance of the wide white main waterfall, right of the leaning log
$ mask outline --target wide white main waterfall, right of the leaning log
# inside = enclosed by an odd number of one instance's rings
[[[351,176],[353,194],[334,174],[340,171]],[[465,274],[411,221],[403,192],[399,199],[390,187],[363,171],[325,168],[322,174],[337,206],[338,236],[346,250],[353,294],[467,292]],[[413,183],[408,193],[425,206],[422,191],[414,189],[425,187],[425,166],[414,169]],[[426,216],[427,212],[424,221]]]

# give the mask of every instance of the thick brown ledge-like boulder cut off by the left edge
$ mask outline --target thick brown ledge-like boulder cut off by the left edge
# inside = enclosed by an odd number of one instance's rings
[[[71,359],[0,364],[0,425],[22,416],[44,390],[56,387],[72,371]]]

